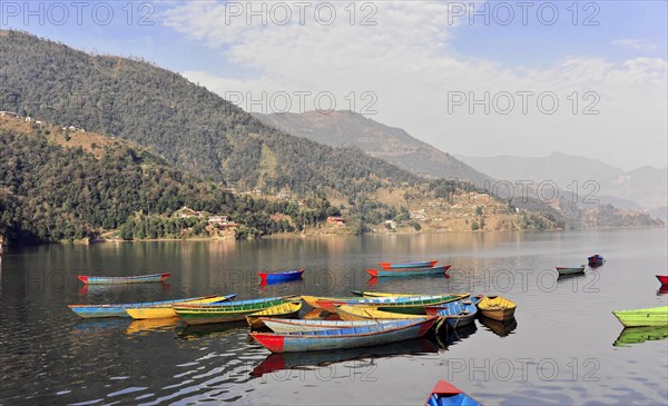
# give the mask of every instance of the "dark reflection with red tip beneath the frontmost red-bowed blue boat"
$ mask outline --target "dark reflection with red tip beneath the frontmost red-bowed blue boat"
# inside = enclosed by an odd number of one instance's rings
[[[439,348],[429,338],[415,338],[382,346],[346,348],[331,351],[277,353],[267,356],[257,365],[250,375],[261,377],[286,369],[316,369],[332,364],[367,359],[373,363],[376,358],[402,355],[420,356],[438,353]]]

